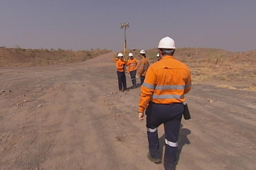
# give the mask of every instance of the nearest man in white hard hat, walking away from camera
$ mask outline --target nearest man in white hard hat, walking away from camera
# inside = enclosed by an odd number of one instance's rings
[[[191,73],[186,64],[173,57],[174,40],[162,38],[158,45],[161,60],[152,64],[141,87],[138,119],[147,115],[148,158],[160,163],[157,128],[164,123],[165,155],[164,167],[176,168],[176,153],[180,122],[184,111],[185,94],[191,88]]]

